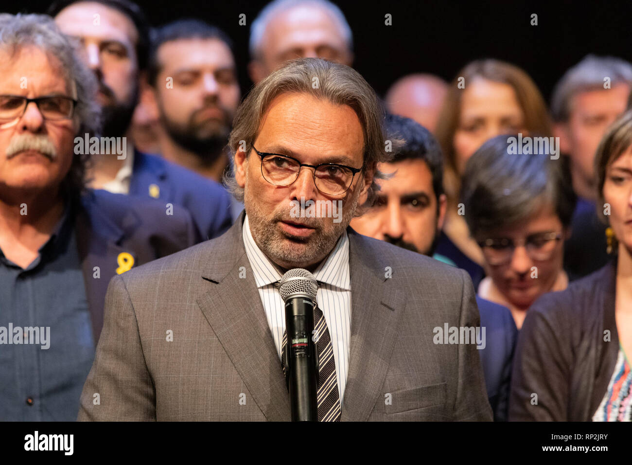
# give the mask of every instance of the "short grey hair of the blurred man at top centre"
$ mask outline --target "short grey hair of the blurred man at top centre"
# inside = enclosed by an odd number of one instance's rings
[[[262,9],[257,18],[252,22],[250,26],[250,42],[248,42],[248,50],[252,58],[260,56],[261,42],[264,39],[265,28],[274,16],[295,8],[296,6],[318,6],[331,16],[332,20],[337,23],[344,40],[347,42],[349,50],[353,49],[353,35],[351,34],[351,28],[347,23],[343,12],[335,4],[327,0],[274,0],[267,4]]]

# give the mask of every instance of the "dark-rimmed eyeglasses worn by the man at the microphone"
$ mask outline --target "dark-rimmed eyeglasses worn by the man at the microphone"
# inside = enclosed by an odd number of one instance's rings
[[[261,157],[261,174],[264,179],[277,187],[287,187],[298,179],[301,167],[307,166],[314,169],[314,183],[320,192],[327,195],[344,194],[351,184],[356,173],[362,168],[352,168],[344,164],[321,163],[317,165],[300,163],[295,158],[277,153],[260,152],[252,146],[257,155]]]

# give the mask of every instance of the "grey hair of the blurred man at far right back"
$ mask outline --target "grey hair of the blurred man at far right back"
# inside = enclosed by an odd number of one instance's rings
[[[579,92],[604,89],[604,78],[611,85],[632,85],[632,65],[613,56],[586,55],[577,65],[569,68],[557,82],[551,97],[551,114],[554,121],[568,121],[571,99]]]

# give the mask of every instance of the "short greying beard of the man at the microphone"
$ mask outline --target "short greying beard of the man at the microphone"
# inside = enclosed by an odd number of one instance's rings
[[[340,239],[340,236],[351,222],[351,218],[353,218],[359,197],[360,190],[355,193],[351,200],[351,205],[343,213],[343,218],[339,223],[334,223],[331,218],[311,218],[309,223],[306,221],[309,226],[316,228],[315,233],[307,240],[293,237],[288,241],[288,236],[279,231],[277,221],[291,218],[289,216],[289,205],[287,210],[277,211],[270,218],[260,208],[257,199],[250,195],[247,185],[244,204],[248,214],[252,238],[265,256],[277,265],[279,263],[293,263],[296,264],[296,267],[301,267],[322,261],[334,249],[336,242],[338,242],[338,239]],[[327,220],[331,220],[334,227],[325,232],[322,224]]]

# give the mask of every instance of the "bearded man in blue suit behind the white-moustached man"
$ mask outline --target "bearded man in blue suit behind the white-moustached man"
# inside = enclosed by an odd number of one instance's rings
[[[61,0],[49,14],[64,34],[82,42],[83,59],[99,81],[103,135],[123,140],[122,154],[93,157],[90,186],[159,199],[162,206],[181,205],[203,240],[228,229],[231,197],[219,183],[138,151],[128,140],[149,47],[149,25],[140,8],[127,0]]]

